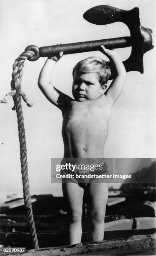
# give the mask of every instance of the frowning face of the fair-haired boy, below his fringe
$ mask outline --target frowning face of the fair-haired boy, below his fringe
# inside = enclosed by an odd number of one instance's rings
[[[98,74],[75,74],[73,78],[72,94],[77,101],[95,100],[104,94],[105,86],[101,86]]]

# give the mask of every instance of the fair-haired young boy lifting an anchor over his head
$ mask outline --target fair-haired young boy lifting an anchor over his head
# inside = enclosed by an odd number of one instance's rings
[[[106,61],[96,57],[84,59],[73,69],[74,99],[51,84],[52,70],[63,52],[60,52],[59,56],[48,58],[41,69],[38,86],[46,98],[62,111],[64,158],[103,158],[110,110],[123,90],[126,71],[114,50],[100,46],[100,51],[113,64],[116,71],[115,79],[108,88],[107,81],[111,71]],[[108,186],[106,183],[88,182],[84,187],[90,240],[103,240]],[[62,183],[67,203],[70,244],[81,242],[84,187],[78,182]]]

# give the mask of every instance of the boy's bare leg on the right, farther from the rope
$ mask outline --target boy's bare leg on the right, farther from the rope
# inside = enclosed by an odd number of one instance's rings
[[[108,199],[107,183],[90,183],[86,187],[87,218],[91,241],[103,240],[105,210]]]

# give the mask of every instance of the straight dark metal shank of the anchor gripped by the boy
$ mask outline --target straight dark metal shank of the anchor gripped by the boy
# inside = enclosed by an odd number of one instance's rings
[[[119,38],[110,38],[102,39],[95,41],[79,42],[72,44],[59,44],[52,46],[44,46],[39,48],[40,57],[56,56],[60,51],[63,51],[64,54],[75,54],[80,52],[87,51],[98,51],[100,45],[104,45],[108,49],[114,48],[123,48],[132,45],[132,39],[130,37],[119,37]]]

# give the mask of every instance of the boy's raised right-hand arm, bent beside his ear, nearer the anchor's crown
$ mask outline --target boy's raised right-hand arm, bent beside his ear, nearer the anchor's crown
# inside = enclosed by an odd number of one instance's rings
[[[101,51],[110,59],[116,71],[116,77],[105,93],[110,105],[113,106],[123,90],[126,79],[126,71],[123,62],[119,59],[114,50],[108,50],[101,45]]]

